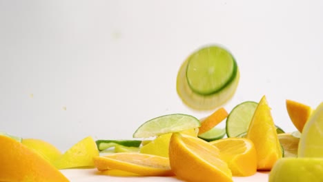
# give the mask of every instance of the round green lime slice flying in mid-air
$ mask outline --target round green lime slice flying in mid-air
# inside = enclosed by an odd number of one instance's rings
[[[211,45],[190,55],[186,79],[193,92],[215,94],[226,87],[237,75],[237,63],[222,47]]]

